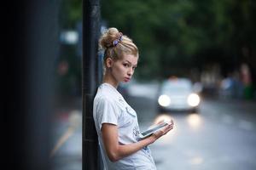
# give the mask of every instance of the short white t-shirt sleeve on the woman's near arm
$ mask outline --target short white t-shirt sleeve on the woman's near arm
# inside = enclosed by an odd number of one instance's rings
[[[118,108],[113,101],[102,98],[96,107],[96,120],[102,129],[102,123],[118,124]]]

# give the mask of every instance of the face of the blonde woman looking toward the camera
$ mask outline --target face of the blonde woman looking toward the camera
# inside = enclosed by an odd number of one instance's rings
[[[129,82],[137,67],[137,57],[124,54],[123,59],[113,61],[111,72],[116,82]]]

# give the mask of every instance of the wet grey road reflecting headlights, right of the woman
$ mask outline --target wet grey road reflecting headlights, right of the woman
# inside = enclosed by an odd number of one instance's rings
[[[160,116],[172,116],[175,122],[172,132],[150,146],[159,170],[256,169],[255,101],[202,99],[198,113],[159,113],[156,89],[133,85],[131,90],[140,94],[127,100],[141,130]]]

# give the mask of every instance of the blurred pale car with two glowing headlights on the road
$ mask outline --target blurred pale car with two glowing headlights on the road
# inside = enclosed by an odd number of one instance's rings
[[[160,85],[158,109],[163,111],[189,111],[197,113],[201,99],[195,93],[189,78],[170,78]]]

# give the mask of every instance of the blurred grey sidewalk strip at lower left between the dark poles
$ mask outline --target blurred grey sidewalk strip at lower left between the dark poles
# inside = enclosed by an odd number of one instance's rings
[[[51,138],[51,165],[53,170],[82,169],[82,109],[80,99],[71,99],[69,105],[55,109]]]

